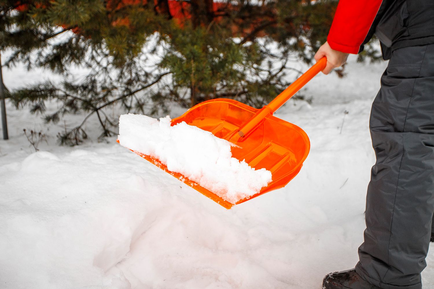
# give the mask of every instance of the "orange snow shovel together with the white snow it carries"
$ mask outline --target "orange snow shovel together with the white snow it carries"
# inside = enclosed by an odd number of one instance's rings
[[[300,171],[309,138],[273,113],[326,63],[320,59],[261,109],[217,98],[173,120],[122,115],[118,142],[230,209],[284,187]]]

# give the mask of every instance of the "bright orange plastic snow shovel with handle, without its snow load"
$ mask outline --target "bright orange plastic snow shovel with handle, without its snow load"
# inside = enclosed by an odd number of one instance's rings
[[[169,171],[158,159],[137,151],[134,153],[227,209],[266,192],[282,188],[300,171],[309,153],[310,143],[301,128],[274,117],[273,113],[319,71],[322,71],[326,63],[327,59],[321,58],[270,104],[261,109],[232,99],[216,98],[197,104],[172,120],[172,126],[185,121],[187,124],[210,131],[215,136],[236,144],[237,146],[232,147],[232,157],[240,161],[245,160],[252,168],[269,170],[273,180],[253,196],[232,204],[184,175]]]

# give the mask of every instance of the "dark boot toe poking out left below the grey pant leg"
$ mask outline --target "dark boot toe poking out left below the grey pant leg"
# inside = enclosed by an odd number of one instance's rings
[[[380,289],[380,287],[363,280],[353,268],[325,276],[322,289]]]

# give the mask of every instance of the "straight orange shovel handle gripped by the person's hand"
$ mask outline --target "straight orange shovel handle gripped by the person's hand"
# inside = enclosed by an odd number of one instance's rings
[[[269,104],[258,110],[258,112],[238,130],[239,136],[245,136],[252,131],[266,116],[273,114],[281,107],[289,98],[300,90],[309,80],[322,71],[327,64],[327,58],[319,59],[308,71],[303,73],[296,81],[291,83],[284,91],[282,91]]]

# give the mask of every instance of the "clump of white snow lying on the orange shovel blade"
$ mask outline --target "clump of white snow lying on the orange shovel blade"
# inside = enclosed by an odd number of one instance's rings
[[[253,169],[232,157],[232,143],[185,122],[171,126],[170,117],[123,114],[119,118],[119,143],[159,159],[178,172],[235,204],[271,181],[271,172]]]

